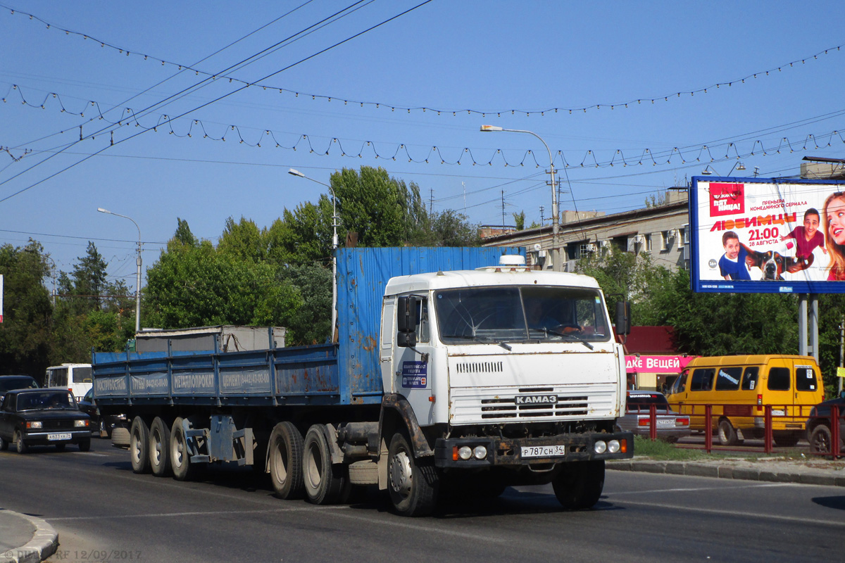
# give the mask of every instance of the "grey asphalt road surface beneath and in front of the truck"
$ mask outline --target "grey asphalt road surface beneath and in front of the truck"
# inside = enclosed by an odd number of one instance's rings
[[[181,483],[132,473],[128,452],[0,452],[0,507],[44,518],[58,561],[797,561],[845,559],[841,488],[608,471],[597,507],[562,512],[550,487],[396,517],[280,501],[248,469]]]

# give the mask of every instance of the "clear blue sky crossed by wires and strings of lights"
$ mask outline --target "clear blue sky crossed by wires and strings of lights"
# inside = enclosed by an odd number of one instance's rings
[[[289,168],[382,166],[435,211],[548,220],[542,143],[482,124],[540,135],[560,208],[608,214],[738,156],[763,177],[845,157],[841,3],[421,2],[0,0],[0,244],[70,271],[94,241],[134,288],[138,231],[97,208],[138,223],[147,268],[177,217],[216,241],[326,191]]]

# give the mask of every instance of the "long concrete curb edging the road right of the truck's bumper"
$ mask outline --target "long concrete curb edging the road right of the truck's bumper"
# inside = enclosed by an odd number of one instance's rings
[[[845,474],[824,475],[800,472],[777,472],[771,468],[745,468],[713,463],[658,462],[646,460],[624,460],[607,463],[608,469],[617,471],[639,471],[642,473],[689,475],[691,477],[714,477],[717,479],[744,479],[771,483],[800,483],[803,485],[826,485],[845,487]]]

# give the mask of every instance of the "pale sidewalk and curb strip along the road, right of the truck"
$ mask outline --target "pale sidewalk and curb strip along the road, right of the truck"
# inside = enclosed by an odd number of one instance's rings
[[[845,463],[831,461],[824,457],[793,459],[777,455],[754,458],[713,456],[710,459],[677,462],[634,457],[634,459],[608,462],[607,468],[719,479],[845,487]]]

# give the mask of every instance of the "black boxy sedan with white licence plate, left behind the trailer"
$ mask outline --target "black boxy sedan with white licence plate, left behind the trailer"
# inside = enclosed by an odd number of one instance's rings
[[[91,448],[91,420],[79,410],[74,394],[67,389],[15,389],[0,403],[0,450],[14,443],[19,453],[30,446],[68,444],[79,450]]]

